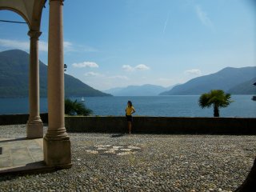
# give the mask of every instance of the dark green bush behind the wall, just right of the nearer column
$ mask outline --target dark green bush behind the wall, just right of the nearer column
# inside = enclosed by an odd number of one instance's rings
[[[65,114],[69,115],[84,115],[88,116],[93,114],[93,111],[86,108],[82,102],[75,100],[74,102],[70,98],[65,99]]]

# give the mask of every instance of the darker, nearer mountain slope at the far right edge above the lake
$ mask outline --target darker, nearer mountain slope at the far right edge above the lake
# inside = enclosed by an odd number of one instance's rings
[[[256,94],[256,86],[254,86],[255,82],[256,78],[252,78],[249,81],[242,82],[241,84],[232,87],[227,92],[230,94]]]

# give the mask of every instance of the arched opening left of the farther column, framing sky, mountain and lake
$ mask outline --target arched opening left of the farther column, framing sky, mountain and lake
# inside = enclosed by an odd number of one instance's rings
[[[15,111],[16,114],[29,114],[29,68],[30,68],[30,42],[27,36],[29,27],[26,23],[14,23],[26,22],[23,17],[14,10],[0,10],[0,18],[12,22],[0,22],[0,26],[5,28],[5,33],[0,38],[0,50],[2,57],[9,59],[8,61],[1,61],[2,74],[0,76],[0,89],[2,90],[0,97],[1,105],[8,105],[5,100],[12,100],[13,105],[1,107],[0,114],[10,114],[11,111]],[[7,29],[7,30],[6,30]],[[15,36],[11,36],[8,33],[15,32]],[[24,53],[22,53],[25,51]],[[22,96],[17,98],[16,95]],[[16,99],[15,99],[16,98]],[[24,103],[23,106],[18,105],[18,100]]]

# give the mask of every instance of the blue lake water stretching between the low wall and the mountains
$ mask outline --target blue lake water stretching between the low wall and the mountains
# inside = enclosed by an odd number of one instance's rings
[[[213,108],[201,109],[199,95],[141,96],[141,97],[88,97],[85,105],[94,115],[122,116],[126,103],[131,100],[136,113],[134,116],[158,117],[213,117]],[[256,118],[256,102],[252,95],[232,95],[234,101],[226,108],[220,108],[221,117]],[[81,98],[71,98],[72,100]],[[47,112],[47,98],[40,99],[40,112]],[[28,114],[28,98],[0,98],[0,114]]]

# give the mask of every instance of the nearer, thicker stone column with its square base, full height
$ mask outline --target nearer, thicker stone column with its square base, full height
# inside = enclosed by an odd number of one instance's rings
[[[63,0],[50,0],[48,39],[48,130],[43,139],[47,166],[70,167],[70,138],[64,117]]]

